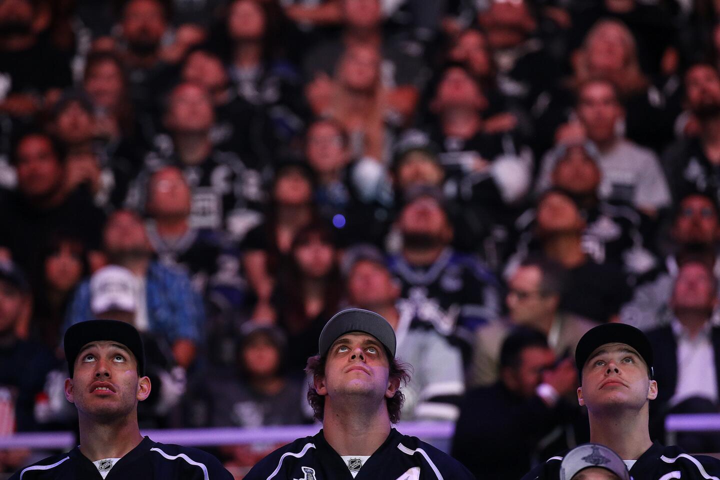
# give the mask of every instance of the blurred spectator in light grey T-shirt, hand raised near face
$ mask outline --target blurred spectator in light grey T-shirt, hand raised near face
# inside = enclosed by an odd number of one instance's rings
[[[608,79],[590,79],[577,87],[577,122],[564,125],[558,133],[563,145],[590,140],[597,149],[602,172],[598,196],[634,206],[655,217],[670,206],[670,191],[657,155],[618,134],[625,111],[618,86]],[[562,154],[553,150],[542,161],[536,190],[544,191],[552,183],[552,171]]]

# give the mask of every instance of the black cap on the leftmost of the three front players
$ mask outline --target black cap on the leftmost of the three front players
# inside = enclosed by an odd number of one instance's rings
[[[65,332],[65,358],[70,378],[80,350],[91,342],[110,340],[125,345],[138,361],[138,375],[145,376],[145,348],[140,333],[132,325],[120,320],[87,320],[72,325]]]

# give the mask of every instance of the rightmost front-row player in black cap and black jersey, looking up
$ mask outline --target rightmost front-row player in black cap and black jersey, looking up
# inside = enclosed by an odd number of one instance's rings
[[[681,448],[650,440],[649,401],[662,388],[653,379],[653,352],[640,330],[608,323],[589,330],[575,350],[580,370],[577,399],[588,407],[590,441],[618,453],[634,480],[710,480],[720,461],[690,456]],[[552,457],[523,480],[560,479],[563,457]]]

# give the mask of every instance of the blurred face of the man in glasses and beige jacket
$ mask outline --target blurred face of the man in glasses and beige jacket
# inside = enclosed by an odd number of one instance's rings
[[[536,266],[521,266],[510,278],[508,304],[510,320],[516,325],[536,326],[539,320],[557,312],[559,296],[541,291],[542,272]]]

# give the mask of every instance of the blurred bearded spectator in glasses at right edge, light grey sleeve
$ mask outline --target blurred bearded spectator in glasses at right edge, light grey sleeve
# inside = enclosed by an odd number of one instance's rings
[[[688,194],[680,199],[670,227],[671,253],[638,286],[631,302],[621,310],[620,318],[643,330],[665,326],[672,320],[670,298],[680,265],[696,260],[719,277],[719,215],[714,199],[703,194]]]

